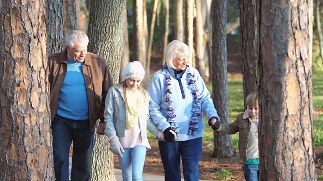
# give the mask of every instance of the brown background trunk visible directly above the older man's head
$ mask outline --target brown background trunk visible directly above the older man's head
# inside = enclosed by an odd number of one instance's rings
[[[79,29],[80,0],[64,0],[64,33]]]

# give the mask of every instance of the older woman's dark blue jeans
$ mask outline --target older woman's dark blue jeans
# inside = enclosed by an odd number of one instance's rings
[[[166,181],[181,181],[181,158],[185,181],[198,181],[198,161],[202,151],[202,137],[188,141],[158,141]]]

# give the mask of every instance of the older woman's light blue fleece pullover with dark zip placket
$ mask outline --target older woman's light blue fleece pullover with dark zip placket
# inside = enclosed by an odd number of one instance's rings
[[[204,121],[202,116],[199,117],[198,131],[196,135],[188,135],[189,124],[192,117],[191,111],[193,108],[192,90],[187,83],[187,74],[189,72],[195,75],[194,78],[196,80],[199,93],[201,94],[201,112],[204,113],[207,119],[216,117],[218,120],[220,120],[220,118],[216,109],[214,108],[212,99],[210,98],[210,93],[207,91],[202,77],[195,68],[190,66],[187,67],[183,75],[179,78],[176,77],[176,73],[173,69],[168,68],[168,70],[172,76],[172,101],[174,112],[176,114],[176,122],[180,128],[180,131],[178,132],[179,141],[187,141],[203,137]],[[149,102],[149,114],[153,120],[153,123],[158,126],[159,130],[162,131],[170,127],[170,124],[167,121],[167,105],[165,104],[165,81],[166,73],[162,69],[159,69],[154,73],[148,88],[148,93],[151,97],[151,101]]]

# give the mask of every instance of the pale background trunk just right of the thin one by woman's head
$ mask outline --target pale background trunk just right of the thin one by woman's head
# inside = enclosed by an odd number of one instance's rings
[[[195,43],[195,60],[196,60],[196,69],[200,72],[200,75],[206,81],[206,67],[205,62],[205,46],[206,46],[206,39],[204,39],[204,28],[202,22],[202,9],[201,9],[201,1],[195,1],[196,3],[196,19],[195,19],[195,36],[194,36],[194,43]]]

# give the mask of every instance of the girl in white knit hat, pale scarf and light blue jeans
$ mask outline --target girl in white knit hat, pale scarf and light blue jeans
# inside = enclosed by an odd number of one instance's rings
[[[105,99],[104,133],[110,150],[118,154],[123,181],[142,180],[146,149],[150,148],[147,129],[161,139],[164,136],[149,116],[150,98],[140,86],[145,75],[141,63],[130,62],[121,75],[124,81],[111,87]]]

